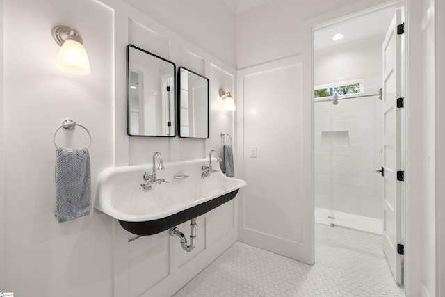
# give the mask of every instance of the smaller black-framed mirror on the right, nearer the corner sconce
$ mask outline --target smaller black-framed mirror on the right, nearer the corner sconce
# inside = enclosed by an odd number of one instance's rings
[[[209,79],[178,69],[179,137],[209,138]]]

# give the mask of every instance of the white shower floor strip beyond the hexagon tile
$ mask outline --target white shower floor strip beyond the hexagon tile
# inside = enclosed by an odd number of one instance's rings
[[[328,218],[328,216],[333,216],[334,219]],[[356,214],[315,207],[315,223],[324,225],[332,223],[340,227],[382,235],[382,219],[369,216],[357,216]]]

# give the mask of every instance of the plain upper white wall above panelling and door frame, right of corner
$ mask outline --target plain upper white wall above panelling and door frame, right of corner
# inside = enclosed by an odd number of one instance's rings
[[[353,2],[271,0],[241,13],[236,17],[238,69],[300,54],[305,19]]]

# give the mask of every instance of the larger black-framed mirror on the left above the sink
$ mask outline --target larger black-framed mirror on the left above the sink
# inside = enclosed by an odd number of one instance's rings
[[[176,65],[127,46],[127,134],[175,137]]]

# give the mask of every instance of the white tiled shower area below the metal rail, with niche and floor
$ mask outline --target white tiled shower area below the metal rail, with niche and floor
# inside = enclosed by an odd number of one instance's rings
[[[378,95],[314,104],[317,223],[382,232],[382,102]]]

